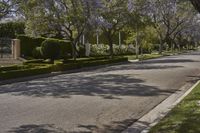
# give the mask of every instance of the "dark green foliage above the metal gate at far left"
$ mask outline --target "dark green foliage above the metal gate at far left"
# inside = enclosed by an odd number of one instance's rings
[[[0,38],[6,37],[15,39],[17,35],[24,34],[24,30],[24,22],[0,23]]]

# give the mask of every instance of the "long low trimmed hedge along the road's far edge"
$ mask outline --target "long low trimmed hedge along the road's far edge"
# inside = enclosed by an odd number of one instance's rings
[[[22,66],[10,66],[0,68],[0,80],[20,78],[26,76],[34,76],[39,74],[48,74],[56,71],[67,71],[80,69],[85,67],[106,65],[111,63],[125,62],[128,61],[126,57],[115,57],[113,59],[89,59],[89,60],[79,60],[64,64],[63,62],[56,62],[55,64],[45,64],[44,60],[33,60],[25,62]]]

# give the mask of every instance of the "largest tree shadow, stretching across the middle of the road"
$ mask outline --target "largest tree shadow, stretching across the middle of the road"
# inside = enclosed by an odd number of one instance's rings
[[[173,92],[147,85],[144,80],[137,79],[133,75],[103,73],[60,75],[0,87],[0,94],[55,98],[84,95],[120,99],[120,96],[157,96]]]

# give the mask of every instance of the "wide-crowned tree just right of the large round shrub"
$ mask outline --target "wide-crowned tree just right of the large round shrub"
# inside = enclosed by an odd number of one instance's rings
[[[23,1],[27,33],[34,36],[60,31],[70,40],[73,58],[76,60],[77,44],[86,26],[92,22],[92,14],[101,6],[98,0],[41,0]]]

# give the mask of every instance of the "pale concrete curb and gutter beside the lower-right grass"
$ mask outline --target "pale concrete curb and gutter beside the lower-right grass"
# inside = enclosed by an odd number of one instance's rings
[[[184,85],[180,90],[169,96],[122,133],[148,133],[151,127],[158,124],[158,122],[179,104],[199,83],[200,81],[194,84],[189,90],[187,90],[187,88],[189,88],[191,84],[188,83]]]

